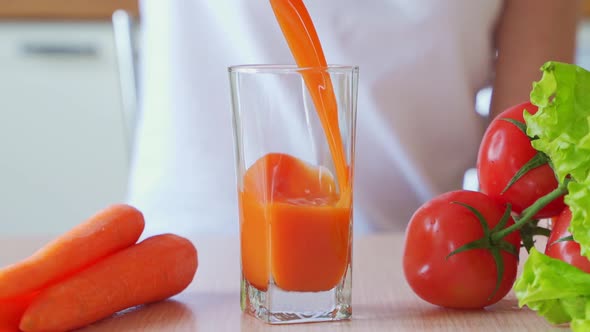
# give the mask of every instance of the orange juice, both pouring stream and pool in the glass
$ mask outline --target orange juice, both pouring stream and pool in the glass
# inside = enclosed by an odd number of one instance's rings
[[[270,0],[299,67],[326,68],[301,0]],[[269,278],[287,291],[326,291],[344,276],[350,256],[351,181],[330,76],[304,70],[339,184],[329,172],[280,153],[260,158],[240,192],[242,271],[266,290]]]

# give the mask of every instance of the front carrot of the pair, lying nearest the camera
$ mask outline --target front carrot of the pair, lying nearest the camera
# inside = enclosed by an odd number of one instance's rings
[[[163,234],[123,249],[41,292],[20,323],[25,332],[67,331],[118,311],[183,291],[197,271],[197,251]]]

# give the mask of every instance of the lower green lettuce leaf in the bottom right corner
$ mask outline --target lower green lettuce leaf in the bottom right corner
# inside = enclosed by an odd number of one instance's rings
[[[526,305],[551,323],[572,322],[574,331],[588,331],[590,274],[533,248],[514,291],[520,307]]]

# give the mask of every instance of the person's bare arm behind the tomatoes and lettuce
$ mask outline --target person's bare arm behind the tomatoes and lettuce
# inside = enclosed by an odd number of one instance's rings
[[[578,0],[504,1],[490,117],[527,101],[546,61],[573,62],[579,8]]]

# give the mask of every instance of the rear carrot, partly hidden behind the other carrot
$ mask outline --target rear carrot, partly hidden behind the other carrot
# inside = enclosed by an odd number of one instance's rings
[[[29,258],[0,269],[0,299],[47,287],[137,242],[143,215],[124,204],[110,206],[47,244]]]

